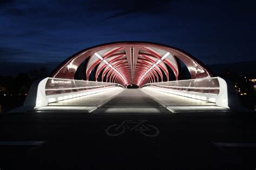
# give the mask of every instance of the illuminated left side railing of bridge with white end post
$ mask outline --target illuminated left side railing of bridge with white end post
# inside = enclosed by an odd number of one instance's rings
[[[33,106],[33,108],[43,107],[55,101],[99,93],[114,87],[125,88],[117,83],[48,77],[41,81],[35,81],[31,85],[24,106]]]

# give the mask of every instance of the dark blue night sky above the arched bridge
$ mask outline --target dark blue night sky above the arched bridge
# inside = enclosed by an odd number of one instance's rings
[[[255,6],[255,1],[1,0],[0,71],[58,65],[86,47],[125,40],[175,46],[205,64],[256,60]]]

